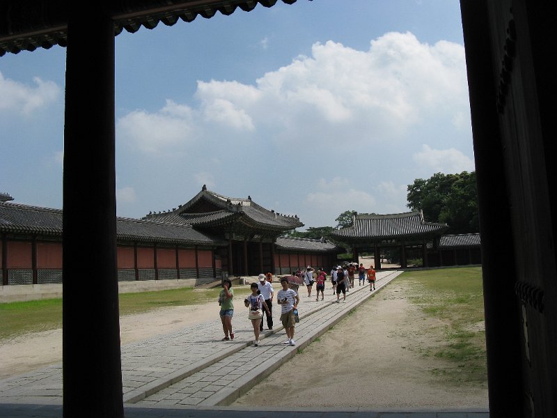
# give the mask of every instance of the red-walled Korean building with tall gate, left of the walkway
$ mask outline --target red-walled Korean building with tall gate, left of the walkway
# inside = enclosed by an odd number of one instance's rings
[[[12,200],[0,194],[1,284],[62,283],[62,210]],[[203,187],[178,209],[116,219],[118,281],[203,284],[228,275],[287,274],[334,263],[344,249],[331,242],[279,238],[303,225],[297,216],[262,208],[250,196],[230,198]]]

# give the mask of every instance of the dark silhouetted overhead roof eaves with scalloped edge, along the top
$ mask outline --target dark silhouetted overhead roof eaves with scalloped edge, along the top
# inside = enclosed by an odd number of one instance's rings
[[[179,20],[191,22],[198,15],[209,19],[217,11],[231,15],[237,8],[253,10],[258,3],[274,6],[277,0],[127,0],[108,1],[107,12],[114,22],[114,33],[134,33],[141,26],[153,29],[159,22],[173,26]],[[296,0],[282,0],[292,4]],[[83,14],[88,7],[81,6]],[[0,56],[6,52],[49,49],[68,43],[68,1],[5,0],[0,2]]]

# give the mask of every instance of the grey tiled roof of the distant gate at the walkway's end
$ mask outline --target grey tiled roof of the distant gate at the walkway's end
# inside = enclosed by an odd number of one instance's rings
[[[425,222],[422,212],[404,212],[393,215],[356,215],[353,226],[333,231],[333,235],[339,240],[386,240],[441,235],[447,228],[447,224]]]

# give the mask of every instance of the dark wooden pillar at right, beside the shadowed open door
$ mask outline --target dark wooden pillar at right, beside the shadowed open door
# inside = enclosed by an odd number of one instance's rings
[[[487,344],[489,416],[522,417],[527,403],[521,379],[520,318],[514,289],[516,272],[508,189],[496,112],[489,1],[461,0],[466,70],[478,183],[482,274]],[[514,6],[513,6],[514,8]],[[492,23],[492,22],[491,22]],[[505,33],[501,33],[505,38]],[[441,259],[441,251],[439,251]],[[501,265],[505,272],[501,272]]]

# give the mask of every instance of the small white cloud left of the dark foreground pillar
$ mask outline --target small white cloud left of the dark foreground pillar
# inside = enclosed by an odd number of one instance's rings
[[[0,72],[0,111],[21,112],[29,115],[58,100],[60,88],[54,82],[44,82],[34,77],[36,86],[27,86],[4,78]]]

